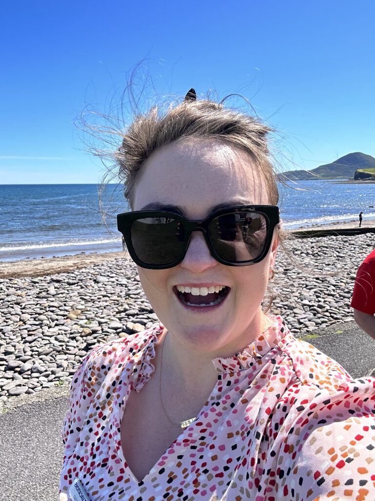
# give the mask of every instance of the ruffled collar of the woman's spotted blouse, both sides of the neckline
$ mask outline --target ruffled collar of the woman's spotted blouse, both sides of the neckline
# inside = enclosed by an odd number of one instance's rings
[[[268,315],[271,325],[242,351],[230,357],[217,357],[212,359],[212,364],[218,373],[231,373],[248,369],[261,359],[275,346],[285,344],[292,337],[282,318],[277,315]],[[155,370],[152,359],[155,358],[155,346],[164,326],[158,326],[134,336],[132,345],[131,362],[133,364],[133,385],[139,391],[151,377]]]

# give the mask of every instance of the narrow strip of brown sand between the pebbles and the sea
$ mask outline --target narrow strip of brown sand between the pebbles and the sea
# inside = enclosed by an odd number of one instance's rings
[[[302,229],[341,229],[341,228],[357,228],[358,220],[352,219],[347,222],[336,222],[325,225],[312,225],[296,228]],[[375,220],[363,220],[361,227],[375,227]],[[288,231],[295,231],[288,230]],[[127,258],[127,253],[111,252],[111,253],[89,253],[75,254],[71,256],[62,256],[55,258],[41,258],[32,260],[19,260],[10,262],[0,262],[0,279],[20,278],[20,277],[44,277],[54,275],[56,273],[65,273],[72,270],[79,270],[90,265],[113,261],[117,258]]]

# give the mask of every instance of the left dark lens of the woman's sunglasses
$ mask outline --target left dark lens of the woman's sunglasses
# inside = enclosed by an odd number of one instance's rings
[[[171,217],[144,217],[130,226],[131,243],[145,265],[168,265],[183,250],[183,226]]]

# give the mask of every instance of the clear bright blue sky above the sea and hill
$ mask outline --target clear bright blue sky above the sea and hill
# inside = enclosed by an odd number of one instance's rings
[[[73,121],[145,58],[162,94],[250,99],[283,170],[375,156],[373,19],[372,0],[3,3],[0,183],[96,183]]]

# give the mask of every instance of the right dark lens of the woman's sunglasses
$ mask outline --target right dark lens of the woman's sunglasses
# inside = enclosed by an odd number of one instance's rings
[[[213,219],[209,234],[217,254],[224,261],[255,260],[264,249],[267,222],[258,212],[231,212]]]

